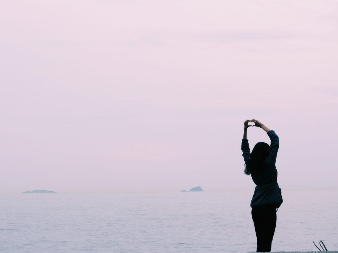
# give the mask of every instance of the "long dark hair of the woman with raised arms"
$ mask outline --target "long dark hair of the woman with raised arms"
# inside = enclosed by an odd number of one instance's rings
[[[250,157],[245,161],[245,170],[246,175],[252,174],[261,174],[266,169],[266,158],[269,154],[270,146],[265,142],[258,142],[252,152]]]

